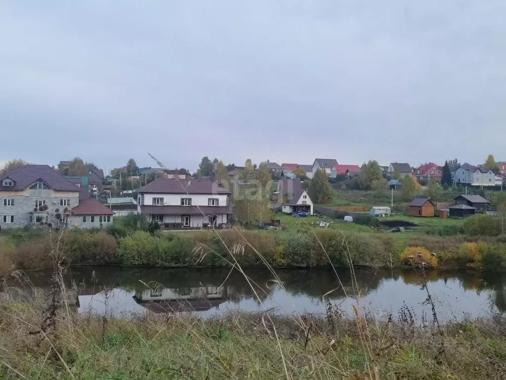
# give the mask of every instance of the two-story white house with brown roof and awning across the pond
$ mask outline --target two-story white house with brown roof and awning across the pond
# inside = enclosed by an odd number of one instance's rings
[[[219,227],[232,215],[229,195],[209,179],[158,178],[139,189],[137,210],[167,228]]]

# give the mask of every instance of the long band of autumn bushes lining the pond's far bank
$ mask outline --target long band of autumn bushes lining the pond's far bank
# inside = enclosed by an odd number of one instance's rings
[[[6,268],[51,267],[51,249],[48,234],[2,236],[4,274]],[[341,268],[351,264],[402,267],[409,265],[407,257],[428,252],[428,268],[506,269],[506,244],[499,237],[342,233],[333,229],[298,233],[226,230],[218,234],[132,231],[116,237],[100,230],[71,230],[60,251],[69,264],[229,267],[237,262],[244,267],[269,264],[278,268],[326,267],[330,262]]]

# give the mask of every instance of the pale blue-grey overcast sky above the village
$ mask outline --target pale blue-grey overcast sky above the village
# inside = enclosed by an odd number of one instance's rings
[[[506,160],[503,0],[0,3],[0,162]]]

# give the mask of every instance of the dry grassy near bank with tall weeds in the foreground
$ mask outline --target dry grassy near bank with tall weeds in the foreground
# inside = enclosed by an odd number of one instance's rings
[[[53,313],[40,298],[0,302],[0,378],[499,378],[503,321],[377,321],[357,314],[274,317]],[[43,326],[41,331],[41,326]]]

